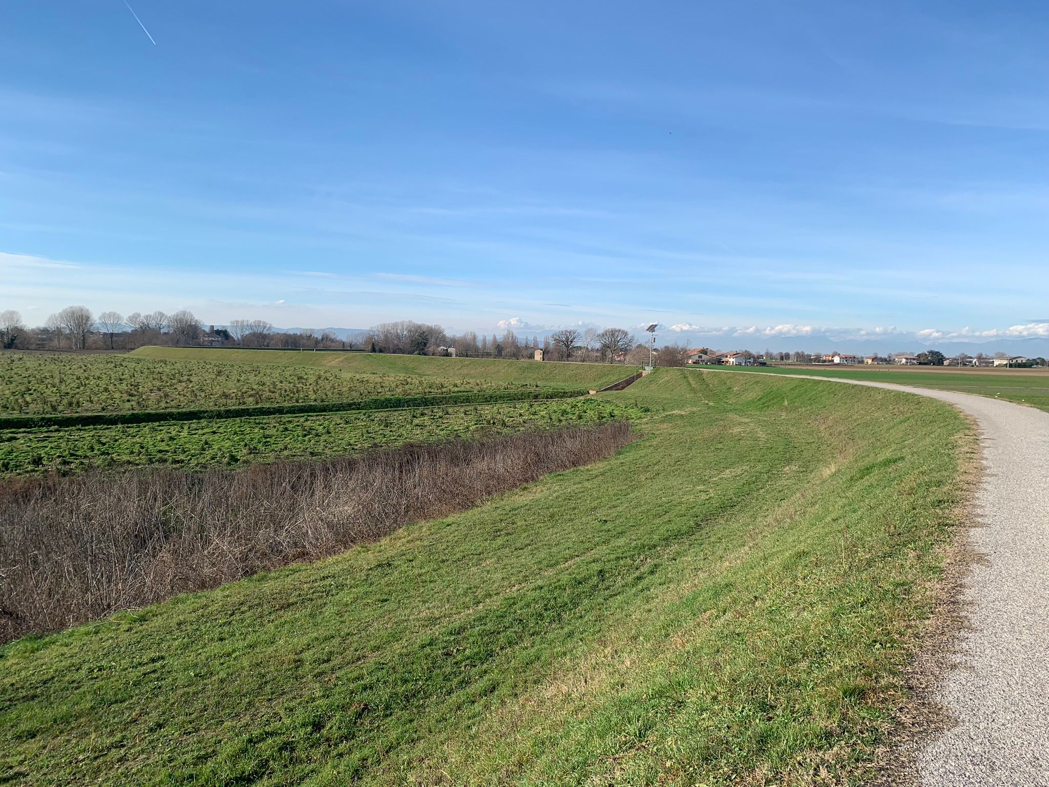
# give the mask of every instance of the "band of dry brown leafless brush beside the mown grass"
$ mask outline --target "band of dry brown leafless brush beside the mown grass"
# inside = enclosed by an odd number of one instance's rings
[[[0,489],[0,640],[334,555],[630,440],[619,421],[236,471],[8,481]]]

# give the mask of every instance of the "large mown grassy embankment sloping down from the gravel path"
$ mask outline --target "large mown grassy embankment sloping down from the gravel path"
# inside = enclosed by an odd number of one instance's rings
[[[609,460],[320,563],[0,650],[38,784],[762,784],[855,774],[906,702],[963,419],[660,369]],[[825,771],[826,769],[826,771]]]

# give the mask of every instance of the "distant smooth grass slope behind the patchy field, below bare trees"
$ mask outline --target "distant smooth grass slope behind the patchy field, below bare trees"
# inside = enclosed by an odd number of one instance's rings
[[[423,377],[484,380],[489,384],[551,385],[600,388],[637,370],[636,366],[607,363],[549,363],[492,358],[435,358],[383,353],[296,353],[267,349],[216,349],[209,347],[140,347],[135,358],[221,361],[338,368],[358,374],[418,375]]]

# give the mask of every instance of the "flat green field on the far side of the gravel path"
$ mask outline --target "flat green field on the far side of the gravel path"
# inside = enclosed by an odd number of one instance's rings
[[[923,388],[958,390],[984,397],[1007,399],[1010,402],[1049,410],[1049,370],[1045,369],[950,369],[949,367],[864,367],[823,368],[813,366],[726,366],[733,371],[754,371],[811,377],[843,377],[850,380],[872,380],[897,385],[918,385]]]

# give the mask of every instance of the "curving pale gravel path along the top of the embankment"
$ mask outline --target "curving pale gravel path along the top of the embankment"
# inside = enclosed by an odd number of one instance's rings
[[[985,561],[964,580],[970,629],[939,700],[957,726],[918,754],[928,787],[1049,787],[1049,412],[999,399],[784,375],[940,399],[972,416],[986,472],[977,493]]]

